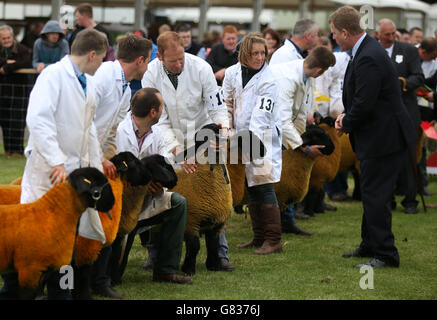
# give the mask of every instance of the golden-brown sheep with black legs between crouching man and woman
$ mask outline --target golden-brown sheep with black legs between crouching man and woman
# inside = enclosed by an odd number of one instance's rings
[[[215,138],[220,139],[220,127],[218,125],[211,124],[202,129],[211,130],[214,132]],[[208,144],[207,138],[202,141],[198,138],[198,134],[199,132],[196,133],[196,146],[194,147],[196,154],[198,154],[197,151],[201,145]],[[249,134],[248,137],[251,139],[250,145],[252,145],[252,139],[255,139],[256,136]],[[235,135],[231,139],[230,146],[232,148],[235,144],[235,147],[241,149],[242,142],[243,135]],[[186,154],[190,154],[189,151],[184,153],[184,155]],[[220,153],[216,153],[216,155],[219,157]],[[187,224],[184,233],[186,253],[181,267],[182,271],[188,275],[193,275],[196,272],[196,257],[200,250],[201,234],[205,234],[207,269],[211,271],[221,270],[218,258],[219,236],[233,208],[227,167],[228,164],[224,163],[218,165],[198,164],[197,171],[194,174],[176,170],[179,182],[170,191],[182,194],[188,202]],[[240,181],[239,186],[244,188],[244,179]]]

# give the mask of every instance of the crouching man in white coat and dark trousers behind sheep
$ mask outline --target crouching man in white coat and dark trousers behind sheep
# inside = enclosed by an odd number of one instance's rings
[[[162,109],[163,98],[158,90],[138,90],[132,99],[131,111],[118,127],[117,150],[132,152],[138,158],[153,154],[168,157],[171,152],[169,145],[165,142],[160,127],[155,125]],[[150,199],[146,196],[137,228],[129,234],[123,263],[121,266],[113,266],[111,270],[113,280],[121,281],[137,230],[162,223],[159,234],[154,237],[159,250],[153,263],[153,281],[191,284],[190,277],[178,275],[187,220],[187,200],[179,193],[164,190],[158,183],[152,183],[149,189],[153,197]],[[118,240],[120,239],[116,242]]]

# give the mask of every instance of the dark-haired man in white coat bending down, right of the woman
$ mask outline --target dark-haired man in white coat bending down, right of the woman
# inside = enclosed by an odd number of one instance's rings
[[[315,158],[322,155],[324,146],[302,147],[301,135],[306,129],[308,99],[311,99],[312,82],[335,64],[335,56],[326,47],[316,47],[305,60],[272,65],[278,83],[277,105],[281,110],[282,145],[285,149],[298,149]],[[283,231],[308,235],[297,228],[293,217],[284,217]]]

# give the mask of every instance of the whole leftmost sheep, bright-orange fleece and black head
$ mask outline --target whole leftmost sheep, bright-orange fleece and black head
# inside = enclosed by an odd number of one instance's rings
[[[0,272],[16,270],[20,288],[35,290],[43,273],[70,264],[85,209],[108,212],[114,202],[105,175],[80,168],[35,202],[0,206]]]

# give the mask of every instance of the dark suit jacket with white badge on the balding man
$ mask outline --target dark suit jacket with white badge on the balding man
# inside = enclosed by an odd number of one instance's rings
[[[407,81],[407,91],[402,91],[402,100],[407,107],[413,124],[420,125],[420,110],[417,105],[416,89],[423,85],[423,75],[419,52],[412,44],[395,41],[391,60],[394,63],[398,76]]]

